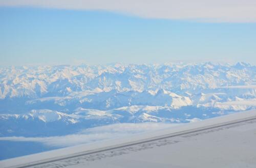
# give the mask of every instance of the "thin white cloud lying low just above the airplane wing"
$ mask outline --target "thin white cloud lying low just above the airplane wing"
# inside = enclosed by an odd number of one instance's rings
[[[71,134],[66,136],[51,136],[51,137],[0,137],[0,140],[10,141],[30,141],[41,142],[49,147],[70,147],[80,145],[82,143],[90,143],[113,138],[131,136],[138,133],[156,131],[170,127],[179,126],[180,124],[164,124],[164,123],[124,123],[113,124],[90,128],[81,131],[79,134]]]

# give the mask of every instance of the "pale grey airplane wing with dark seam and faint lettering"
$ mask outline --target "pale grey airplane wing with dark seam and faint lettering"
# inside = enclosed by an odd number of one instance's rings
[[[0,161],[0,167],[256,167],[256,110]]]

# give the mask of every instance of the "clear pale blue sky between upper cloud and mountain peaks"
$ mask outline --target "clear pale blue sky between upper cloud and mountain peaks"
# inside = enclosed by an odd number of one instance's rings
[[[255,22],[0,7],[0,25],[0,65],[171,61],[256,64]]]

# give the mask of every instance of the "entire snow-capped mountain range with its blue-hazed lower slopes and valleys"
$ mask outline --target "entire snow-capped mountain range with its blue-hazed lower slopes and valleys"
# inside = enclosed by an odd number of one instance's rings
[[[0,68],[0,136],[185,123],[253,108],[256,66],[242,62]]]

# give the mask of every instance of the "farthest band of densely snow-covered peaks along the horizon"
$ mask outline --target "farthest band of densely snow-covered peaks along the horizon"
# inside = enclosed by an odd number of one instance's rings
[[[216,89],[252,85],[255,66],[229,64],[80,65],[1,68],[1,98],[67,95],[70,92]]]

